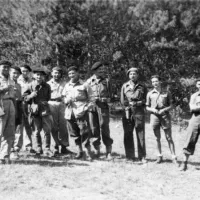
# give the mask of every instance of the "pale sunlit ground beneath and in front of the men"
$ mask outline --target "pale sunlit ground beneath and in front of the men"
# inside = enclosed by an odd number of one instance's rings
[[[21,153],[20,160],[0,166],[0,200],[192,200],[200,199],[200,146],[190,159],[189,169],[180,172],[171,163],[162,134],[164,163],[155,164],[155,138],[146,124],[148,163],[126,162],[121,121],[110,123],[114,139],[113,161],[77,161],[69,157],[41,159]],[[186,131],[173,127],[178,159]],[[71,141],[72,150],[75,150]],[[102,145],[102,153],[105,148]]]

